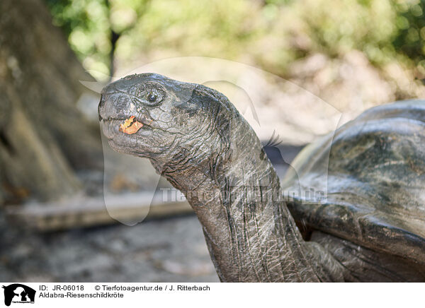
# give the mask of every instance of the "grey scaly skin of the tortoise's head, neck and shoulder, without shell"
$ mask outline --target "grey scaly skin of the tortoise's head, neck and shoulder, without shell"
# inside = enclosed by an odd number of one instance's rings
[[[374,251],[321,232],[314,241],[302,239],[259,138],[227,97],[152,73],[127,76],[101,94],[99,120],[110,146],[148,158],[186,195],[220,280],[375,278],[351,275],[351,268],[370,273],[365,256],[382,259]],[[136,134],[124,134],[119,126],[131,116],[144,126]],[[387,263],[399,262],[390,258]]]

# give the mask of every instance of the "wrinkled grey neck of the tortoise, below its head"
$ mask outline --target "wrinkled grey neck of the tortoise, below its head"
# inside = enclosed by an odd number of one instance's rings
[[[331,256],[304,242],[298,232],[276,172],[261,155],[261,143],[249,124],[237,113],[228,132],[224,138],[198,132],[204,137],[193,138],[199,140],[193,145],[197,150],[174,149],[172,165],[151,160],[198,215],[220,280],[335,280],[329,273],[334,270],[320,264],[329,265]],[[207,141],[205,136],[210,136]],[[203,149],[206,145],[214,148]]]

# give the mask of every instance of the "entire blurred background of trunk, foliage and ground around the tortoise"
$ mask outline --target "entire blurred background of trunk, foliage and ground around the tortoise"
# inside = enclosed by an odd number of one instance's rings
[[[242,94],[205,84],[242,113],[256,102],[247,117],[266,119],[257,134],[283,174],[302,146],[363,110],[425,97],[424,10],[425,0],[2,0],[0,280],[218,281],[188,204],[164,203],[159,187],[170,186],[149,162],[135,168],[102,144],[102,86],[152,63],[266,71],[244,74]],[[169,61],[181,57],[222,60]]]

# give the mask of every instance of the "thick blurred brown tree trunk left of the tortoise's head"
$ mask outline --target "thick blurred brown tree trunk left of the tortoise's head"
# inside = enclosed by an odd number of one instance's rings
[[[41,0],[0,1],[0,203],[57,199],[100,168],[101,141],[76,102],[91,81]]]

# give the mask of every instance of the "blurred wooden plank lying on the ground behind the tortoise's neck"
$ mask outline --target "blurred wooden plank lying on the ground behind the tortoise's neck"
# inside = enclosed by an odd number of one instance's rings
[[[107,206],[106,206],[107,204]],[[76,198],[52,203],[28,203],[7,206],[6,215],[20,225],[39,231],[65,230],[125,222],[128,225],[145,218],[191,213],[187,201],[162,201],[162,193],[137,193],[103,198]],[[115,219],[114,219],[115,218]]]

